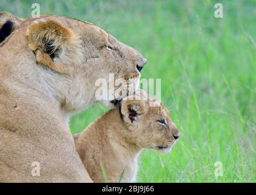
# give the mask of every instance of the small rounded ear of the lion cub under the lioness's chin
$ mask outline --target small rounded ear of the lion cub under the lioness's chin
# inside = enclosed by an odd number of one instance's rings
[[[146,105],[143,100],[124,99],[121,104],[122,115],[132,123],[137,121],[138,116],[141,115],[145,109]]]

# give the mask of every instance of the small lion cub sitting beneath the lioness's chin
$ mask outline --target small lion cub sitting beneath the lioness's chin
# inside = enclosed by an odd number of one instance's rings
[[[152,107],[152,105],[157,105]],[[168,152],[179,132],[168,110],[152,99],[125,98],[82,133],[74,135],[77,152],[93,182],[134,182],[143,148]]]

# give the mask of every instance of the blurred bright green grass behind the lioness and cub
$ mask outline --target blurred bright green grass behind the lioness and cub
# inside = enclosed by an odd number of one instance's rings
[[[1,0],[30,16],[34,1]],[[169,154],[146,149],[138,182],[256,182],[256,1],[37,1],[41,14],[91,21],[148,59],[181,137]],[[221,2],[224,18],[214,17]],[[71,119],[83,130],[107,108]],[[221,161],[223,176],[215,177]]]

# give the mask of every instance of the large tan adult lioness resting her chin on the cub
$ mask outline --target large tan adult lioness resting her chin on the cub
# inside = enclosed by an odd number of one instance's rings
[[[146,59],[98,26],[57,15],[24,19],[0,59],[0,182],[91,182],[69,116],[98,101],[94,83],[109,73],[133,84],[116,99],[133,93]]]

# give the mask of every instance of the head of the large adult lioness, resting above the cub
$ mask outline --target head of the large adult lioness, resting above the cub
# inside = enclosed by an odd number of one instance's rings
[[[146,59],[105,30],[54,15],[27,23],[27,42],[37,63],[68,79],[70,95],[109,103],[137,90]]]

